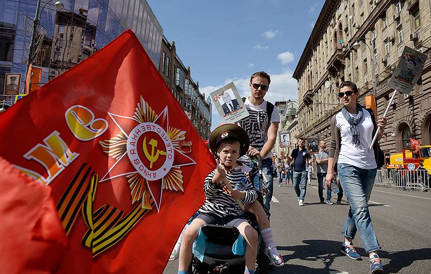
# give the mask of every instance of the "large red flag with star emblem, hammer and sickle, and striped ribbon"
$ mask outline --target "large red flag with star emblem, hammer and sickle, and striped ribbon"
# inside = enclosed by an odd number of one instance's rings
[[[163,271],[215,161],[132,31],[0,120],[0,156],[52,187],[57,272]]]

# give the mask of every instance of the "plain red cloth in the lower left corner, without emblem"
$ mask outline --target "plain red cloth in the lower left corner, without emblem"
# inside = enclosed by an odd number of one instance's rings
[[[2,273],[52,272],[67,240],[51,188],[25,176],[3,158],[0,173]]]

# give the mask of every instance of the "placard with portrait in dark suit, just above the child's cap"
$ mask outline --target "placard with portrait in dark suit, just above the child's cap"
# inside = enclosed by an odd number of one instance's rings
[[[210,96],[225,123],[235,123],[249,115],[233,82],[210,93]]]

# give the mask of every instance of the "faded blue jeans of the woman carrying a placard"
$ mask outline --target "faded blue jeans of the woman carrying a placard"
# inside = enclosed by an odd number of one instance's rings
[[[340,183],[350,203],[349,213],[341,234],[354,239],[358,231],[367,252],[381,248],[368,210],[368,200],[376,174],[376,168],[362,169],[349,164],[338,164]]]

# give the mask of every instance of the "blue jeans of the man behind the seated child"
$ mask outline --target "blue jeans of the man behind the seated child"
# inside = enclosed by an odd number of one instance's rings
[[[268,182],[265,182],[265,180],[263,181],[263,185],[260,183],[258,170],[251,164],[251,162],[247,162],[246,164],[252,168],[250,171],[250,180],[253,182],[254,188],[260,190],[261,192],[263,192],[264,187],[268,189],[268,194],[264,195],[264,211],[269,218],[271,216],[270,202],[273,198],[274,191],[273,161],[271,157],[262,160],[262,173],[265,174],[265,177],[268,179]]]

